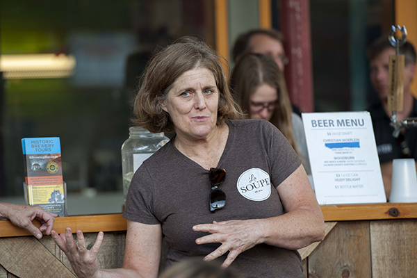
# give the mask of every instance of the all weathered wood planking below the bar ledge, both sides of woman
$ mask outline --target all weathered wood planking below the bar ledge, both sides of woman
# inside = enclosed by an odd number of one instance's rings
[[[416,219],[326,224],[329,233],[325,240],[303,260],[305,277],[417,277]],[[334,227],[330,229],[331,226]],[[96,237],[97,233],[85,234],[87,245],[91,247]],[[124,231],[106,232],[99,266],[120,268],[124,243]],[[166,246],[164,249],[166,253]],[[42,268],[45,263],[48,267]],[[50,236],[41,240],[23,236],[0,238],[0,278],[11,277],[74,278],[74,275],[66,256]]]

